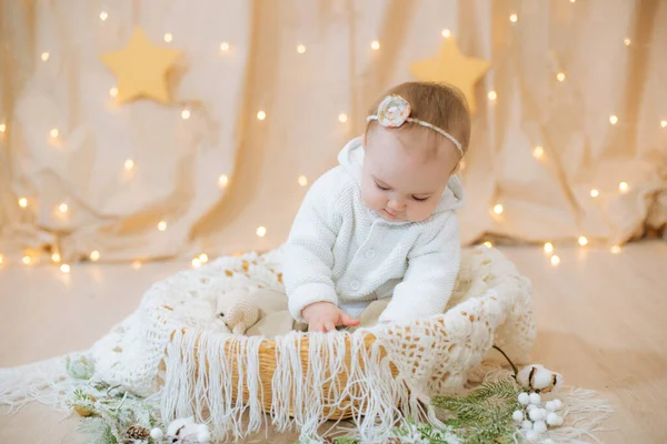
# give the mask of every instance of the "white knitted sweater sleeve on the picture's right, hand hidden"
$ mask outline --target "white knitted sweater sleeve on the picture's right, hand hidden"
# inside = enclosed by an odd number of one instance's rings
[[[380,315],[380,322],[414,321],[442,313],[460,269],[461,244],[456,213],[429,226],[408,255],[408,270]]]

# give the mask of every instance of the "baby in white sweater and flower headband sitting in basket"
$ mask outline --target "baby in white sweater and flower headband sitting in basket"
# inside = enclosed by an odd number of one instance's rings
[[[285,246],[289,312],[311,332],[356,326],[379,299],[390,297],[380,322],[442,313],[459,271],[465,98],[445,84],[402,83],[367,122],[310,188]]]

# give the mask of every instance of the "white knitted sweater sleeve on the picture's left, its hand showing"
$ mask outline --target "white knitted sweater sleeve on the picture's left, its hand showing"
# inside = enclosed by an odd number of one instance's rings
[[[301,311],[315,302],[338,305],[331,275],[334,243],[342,223],[336,205],[342,174],[342,170],[336,168],[312,184],[285,245],[285,289],[289,312],[297,321],[303,321]]]

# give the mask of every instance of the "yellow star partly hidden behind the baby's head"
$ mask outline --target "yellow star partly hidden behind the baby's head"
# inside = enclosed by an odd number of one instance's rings
[[[485,74],[489,62],[466,57],[454,39],[445,39],[438,54],[432,59],[412,63],[410,72],[426,82],[446,82],[457,87],[466,95],[470,112],[475,112],[475,83]]]

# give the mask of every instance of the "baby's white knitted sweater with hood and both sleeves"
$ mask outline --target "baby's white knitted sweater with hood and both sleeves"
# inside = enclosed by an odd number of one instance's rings
[[[313,302],[345,310],[384,297],[391,301],[380,322],[442,313],[460,266],[458,178],[425,221],[388,222],[361,201],[361,140],[350,141],[338,161],[308,191],[285,245],[291,315],[302,321],[301,310]]]

